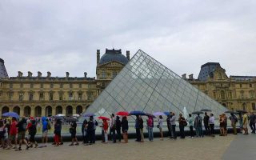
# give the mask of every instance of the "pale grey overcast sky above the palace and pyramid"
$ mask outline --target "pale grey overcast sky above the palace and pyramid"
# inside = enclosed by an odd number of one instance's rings
[[[96,50],[138,49],[175,73],[220,62],[230,75],[254,75],[254,0],[1,0],[0,58],[43,76],[95,77]]]

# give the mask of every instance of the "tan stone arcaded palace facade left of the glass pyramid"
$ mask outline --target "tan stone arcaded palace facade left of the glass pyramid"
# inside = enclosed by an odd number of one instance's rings
[[[42,77],[41,72],[33,76],[30,71],[26,77],[18,71],[17,77],[0,78],[0,115],[8,111],[26,117],[82,114],[125,66],[114,58],[115,54],[100,64],[99,52],[97,50],[97,78],[87,78],[86,72],[82,78],[70,77],[68,72],[66,77],[55,78],[50,72]],[[102,77],[102,70],[106,77]]]

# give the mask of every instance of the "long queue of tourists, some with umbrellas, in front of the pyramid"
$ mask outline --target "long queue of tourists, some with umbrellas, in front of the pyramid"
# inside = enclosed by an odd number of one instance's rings
[[[248,124],[252,130],[252,134],[255,134],[255,122],[256,116],[254,113],[248,114],[235,114],[231,113],[230,117],[227,117],[226,114],[219,115],[218,126],[219,126],[219,135],[227,135],[227,121],[230,120],[231,126],[233,128],[233,134],[237,134],[237,123],[240,127],[240,133],[245,135],[248,134]],[[208,115],[205,112],[202,117],[200,114],[197,114],[195,118],[191,114],[188,115],[188,118],[184,118],[182,114],[178,115],[178,118],[173,112],[167,116],[166,121],[164,121],[162,115],[158,116],[158,120],[155,119],[153,115],[148,115],[146,122],[143,122],[141,115],[136,115],[134,128],[136,130],[136,142],[144,142],[144,131],[145,128],[148,132],[148,139],[150,142],[154,141],[154,124],[157,124],[157,128],[160,134],[160,140],[163,140],[163,123],[166,122],[168,129],[168,136],[172,139],[177,139],[176,134],[176,122],[178,122],[179,136],[180,138],[185,138],[186,133],[184,128],[189,127],[189,132],[187,136],[190,138],[203,138],[204,136],[214,137],[214,125],[216,123],[214,119],[214,114]],[[47,146],[48,142],[48,130],[54,130],[54,146],[60,146],[62,142],[62,120],[60,118],[54,119],[54,124],[51,125],[51,122],[47,118],[43,117],[39,122],[42,124],[42,146]],[[38,120],[34,118],[21,118],[19,121],[17,118],[2,118],[0,120],[0,142],[3,149],[15,149],[22,150],[22,144],[26,145],[26,150],[30,147],[38,147],[38,142],[35,140],[35,135],[37,134],[37,124]],[[110,118],[102,118],[102,125],[99,126],[94,116],[90,116],[88,119],[85,119],[82,122],[82,143],[84,145],[92,145],[95,143],[96,136],[95,130],[97,127],[102,128],[102,142],[108,143],[109,139],[112,142],[128,142],[128,130],[129,124],[126,116],[115,116],[114,114],[110,115]],[[204,132],[202,127],[204,127]],[[77,134],[77,123],[71,122],[70,124],[70,134],[72,142],[70,146],[79,145]],[[26,136],[26,132],[29,136]],[[122,141],[123,140],[123,141]]]

